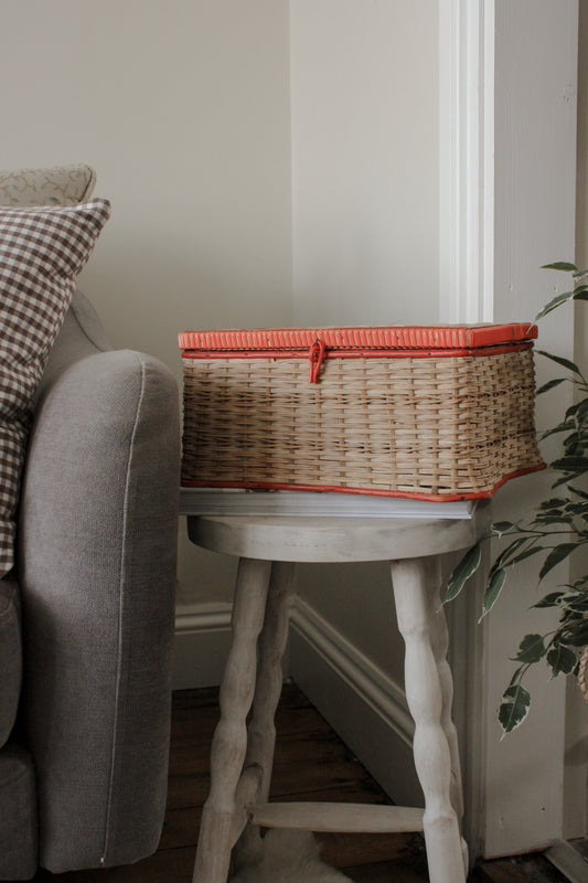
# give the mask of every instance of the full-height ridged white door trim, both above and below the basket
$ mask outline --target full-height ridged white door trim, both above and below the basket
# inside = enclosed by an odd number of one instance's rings
[[[492,321],[494,302],[494,0],[439,0],[439,317]],[[446,608],[473,855],[483,838],[480,587]]]

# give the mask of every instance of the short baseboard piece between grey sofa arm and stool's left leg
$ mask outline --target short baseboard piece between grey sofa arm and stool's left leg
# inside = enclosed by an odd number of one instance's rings
[[[175,617],[172,688],[193,690],[221,683],[231,648],[231,604],[203,604]]]

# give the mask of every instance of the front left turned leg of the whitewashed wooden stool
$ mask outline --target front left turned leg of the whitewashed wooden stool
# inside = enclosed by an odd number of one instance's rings
[[[271,562],[239,561],[233,607],[233,643],[221,685],[221,720],[211,749],[211,791],[202,811],[193,883],[226,883],[231,850],[239,837],[235,792],[247,747],[246,717],[256,680],[256,642]]]

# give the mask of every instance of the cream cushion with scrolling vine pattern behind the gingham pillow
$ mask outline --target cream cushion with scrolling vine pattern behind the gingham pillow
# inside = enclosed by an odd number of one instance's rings
[[[95,182],[83,163],[0,171],[0,205],[73,205],[90,198]]]

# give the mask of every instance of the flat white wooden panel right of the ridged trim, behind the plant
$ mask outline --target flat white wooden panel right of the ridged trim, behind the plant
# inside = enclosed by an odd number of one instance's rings
[[[501,322],[533,317],[556,291],[568,290],[567,276],[541,266],[574,258],[578,7],[576,0],[498,0],[495,11],[494,320]],[[573,358],[573,311],[542,320],[539,336],[539,349]],[[541,383],[552,370],[541,358],[536,364]],[[539,430],[558,422],[570,401],[558,389],[538,400]],[[547,448],[544,456],[555,453]],[[509,482],[494,498],[495,520],[522,517],[552,480],[539,474]],[[567,582],[563,568],[537,587],[537,571],[533,562],[514,568],[484,620],[487,855],[541,848],[563,830],[564,680],[550,680],[537,666],[526,683],[530,717],[503,741],[495,716],[520,640],[552,627],[549,614],[532,605]]]

